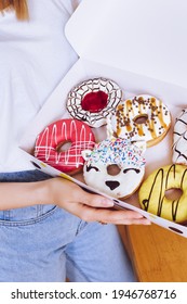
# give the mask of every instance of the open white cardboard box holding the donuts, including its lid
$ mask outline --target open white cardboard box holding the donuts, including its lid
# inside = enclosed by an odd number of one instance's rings
[[[29,161],[42,172],[68,178],[97,192],[77,178],[41,163],[31,151],[37,135],[45,126],[70,117],[65,101],[72,87],[89,78],[106,77],[122,88],[125,99],[149,93],[169,106],[172,127],[160,143],[147,149],[146,176],[160,166],[172,164],[173,123],[187,106],[186,13],[186,0],[82,0],[66,25],[67,39],[79,60],[23,136],[21,148]],[[106,137],[106,127],[94,131],[97,140]],[[152,223],[187,237],[187,227],[141,210],[137,192],[125,202],[115,199],[115,204],[138,211]]]

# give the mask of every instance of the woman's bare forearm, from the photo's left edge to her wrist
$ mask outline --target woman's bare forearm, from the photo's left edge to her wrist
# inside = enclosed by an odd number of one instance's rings
[[[50,180],[37,182],[0,182],[0,210],[50,204]]]

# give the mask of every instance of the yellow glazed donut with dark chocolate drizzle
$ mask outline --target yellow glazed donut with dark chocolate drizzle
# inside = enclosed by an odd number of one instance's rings
[[[165,191],[178,190],[179,198],[168,198]],[[187,220],[187,167],[169,165],[155,170],[139,189],[141,206],[157,216],[175,223]]]

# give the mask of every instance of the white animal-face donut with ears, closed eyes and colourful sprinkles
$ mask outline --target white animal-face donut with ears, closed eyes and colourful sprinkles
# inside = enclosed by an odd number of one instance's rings
[[[139,187],[145,174],[146,143],[103,140],[92,151],[83,151],[85,182],[112,198],[128,198]]]

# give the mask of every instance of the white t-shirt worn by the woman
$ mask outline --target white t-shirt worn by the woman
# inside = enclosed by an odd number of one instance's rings
[[[18,140],[77,60],[64,26],[79,1],[28,0],[26,22],[0,13],[1,173],[34,168]]]

